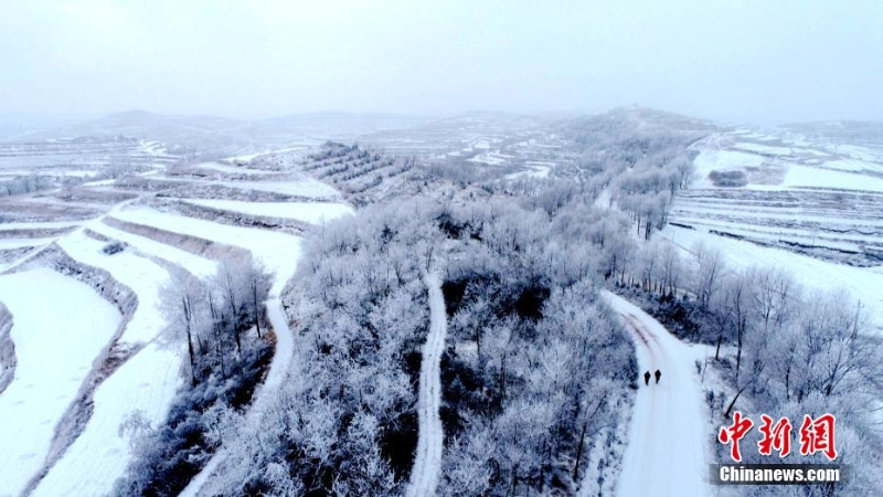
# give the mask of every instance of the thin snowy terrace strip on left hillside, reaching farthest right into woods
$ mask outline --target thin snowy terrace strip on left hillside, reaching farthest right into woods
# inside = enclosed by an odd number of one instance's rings
[[[351,207],[331,202],[246,202],[241,200],[184,199],[187,203],[242,212],[252,215],[296,219],[311,224],[322,224],[352,214]]]

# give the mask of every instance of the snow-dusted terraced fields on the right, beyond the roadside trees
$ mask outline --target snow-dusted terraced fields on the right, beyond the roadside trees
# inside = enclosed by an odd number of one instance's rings
[[[694,145],[696,179],[663,236],[722,248],[737,266],[787,268],[843,287],[883,325],[883,154],[789,130],[720,133]]]

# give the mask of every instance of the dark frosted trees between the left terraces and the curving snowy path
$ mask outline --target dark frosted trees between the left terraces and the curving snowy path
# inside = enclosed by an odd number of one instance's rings
[[[263,304],[270,279],[251,257],[222,261],[208,281],[172,274],[162,288],[166,339],[187,350],[189,384],[163,424],[137,413],[120,429],[135,457],[116,494],[177,495],[222,444],[220,423],[247,406],[273,355]]]

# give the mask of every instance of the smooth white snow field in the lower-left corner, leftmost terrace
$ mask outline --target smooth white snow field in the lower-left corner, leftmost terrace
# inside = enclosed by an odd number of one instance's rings
[[[0,394],[0,495],[43,466],[55,425],[121,319],[92,288],[47,268],[0,276],[18,364]]]

